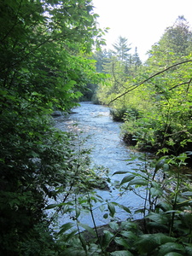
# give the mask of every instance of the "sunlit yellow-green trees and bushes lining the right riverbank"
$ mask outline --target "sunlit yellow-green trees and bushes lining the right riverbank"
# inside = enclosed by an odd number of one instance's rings
[[[154,44],[143,65],[135,72],[129,67],[127,79],[124,61],[109,68],[111,78],[100,84],[97,96],[111,104],[115,119],[124,119],[125,141],[152,151],[167,148],[174,154],[190,147],[191,48],[192,34],[181,16]]]

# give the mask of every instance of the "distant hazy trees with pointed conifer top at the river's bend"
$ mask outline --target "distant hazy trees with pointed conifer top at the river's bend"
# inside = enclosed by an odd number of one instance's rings
[[[113,44],[114,50],[100,50],[94,55],[96,68],[100,73],[108,74],[108,79],[104,84],[99,84],[96,90],[96,99],[98,102],[108,104],[115,96],[119,95],[125,84],[134,76],[142,62],[137,54],[131,55],[130,44],[126,38],[119,37]],[[116,105],[119,104],[116,102]],[[121,106],[123,108],[123,106]]]

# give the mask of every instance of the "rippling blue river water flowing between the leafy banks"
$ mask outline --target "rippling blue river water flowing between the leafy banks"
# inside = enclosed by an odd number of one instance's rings
[[[120,181],[124,177],[123,175],[113,175],[114,172],[131,172],[131,170],[138,169],[138,165],[141,164],[136,159],[128,165],[127,160],[130,159],[133,152],[121,141],[119,137],[120,124],[111,119],[109,108],[107,107],[94,105],[91,102],[81,102],[80,107],[74,108],[73,113],[67,119],[56,119],[56,126],[61,131],[78,133],[79,137],[90,136],[85,142],[84,147],[92,148],[90,158],[93,165],[96,164],[108,168],[112,183]],[[119,189],[114,189],[112,184],[109,184],[109,187],[110,191],[96,191],[105,201],[116,201],[125,207],[129,207],[132,212],[143,206],[143,200],[133,192],[126,191],[121,195]],[[143,192],[141,191],[141,193]],[[116,208],[116,211],[116,217],[119,220],[125,220],[130,217],[141,218],[138,214],[131,216],[131,214],[119,207]],[[101,212],[96,206],[94,210],[96,225],[108,224],[110,221],[110,218],[103,218],[103,214],[104,212]],[[84,213],[80,217],[80,221],[93,226],[90,213]],[[61,216],[60,222],[61,224],[67,222],[67,217]]]

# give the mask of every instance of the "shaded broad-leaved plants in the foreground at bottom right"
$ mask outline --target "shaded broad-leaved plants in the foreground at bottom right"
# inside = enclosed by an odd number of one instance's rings
[[[122,191],[134,191],[143,198],[143,207],[136,210],[143,213],[143,219],[115,221],[116,207],[131,212],[129,207],[111,201],[106,207],[112,220],[108,226],[93,229],[79,222],[76,208],[78,229],[74,230],[74,224],[68,223],[62,225],[58,234],[58,242],[63,244],[61,255],[191,255],[192,187],[189,177],[183,173],[187,157],[187,154],[164,156],[141,162],[136,172],[113,173],[124,175],[119,182]],[[139,194],[139,191],[143,192]],[[96,195],[86,197],[79,201],[84,201],[84,206],[93,212]],[[85,231],[81,232],[79,227]]]

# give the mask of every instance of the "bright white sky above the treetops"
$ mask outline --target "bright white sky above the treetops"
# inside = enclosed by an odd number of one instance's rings
[[[128,39],[133,54],[142,61],[147,60],[147,51],[157,43],[166,27],[172,26],[178,16],[183,15],[192,27],[192,0],[92,0],[94,12],[101,28],[109,27],[106,49],[119,36]]]

